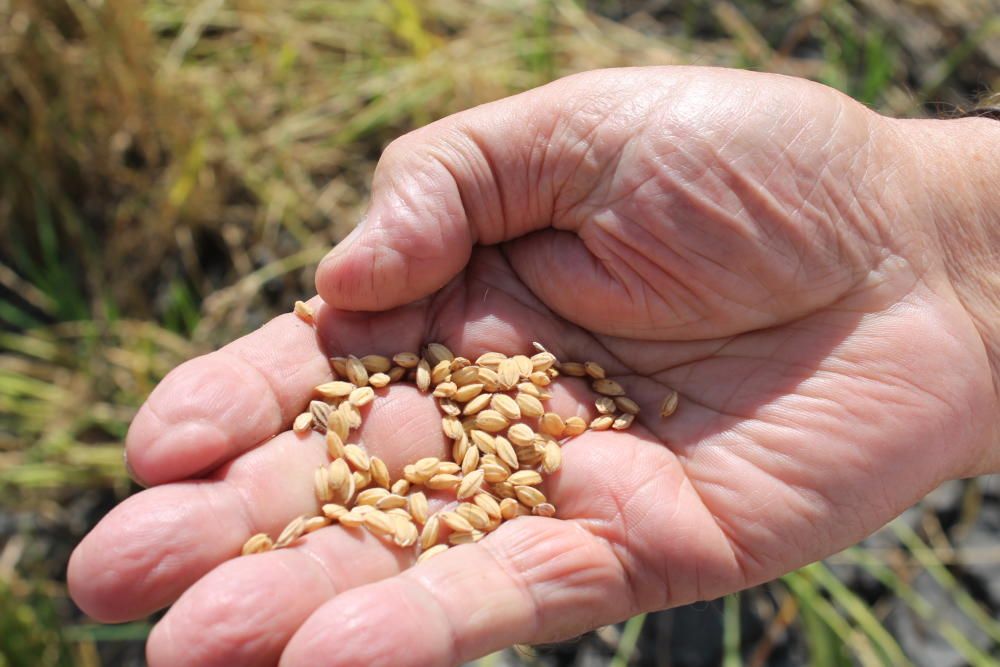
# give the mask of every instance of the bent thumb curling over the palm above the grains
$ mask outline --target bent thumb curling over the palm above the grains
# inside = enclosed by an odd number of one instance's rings
[[[425,297],[465,267],[472,246],[549,225],[549,138],[567,80],[461,112],[390,144],[365,219],[316,273],[327,303],[384,310]]]

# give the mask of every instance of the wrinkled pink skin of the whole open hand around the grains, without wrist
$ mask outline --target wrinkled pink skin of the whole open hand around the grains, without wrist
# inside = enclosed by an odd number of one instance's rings
[[[77,549],[74,598],[105,621],[176,600],[154,667],[451,665],[772,579],[983,472],[996,393],[908,132],[817,84],[664,68],[401,138],[319,268],[318,335],[281,316],[150,396],[127,453],[153,486]],[[568,520],[412,569],[341,528],[232,559],[316,511],[322,438],[288,429],[326,356],[433,340],[473,358],[542,341],[643,412],[566,445],[544,488]],[[358,438],[394,475],[445,451],[429,398],[382,393]],[[552,405],[593,415],[581,380]]]

